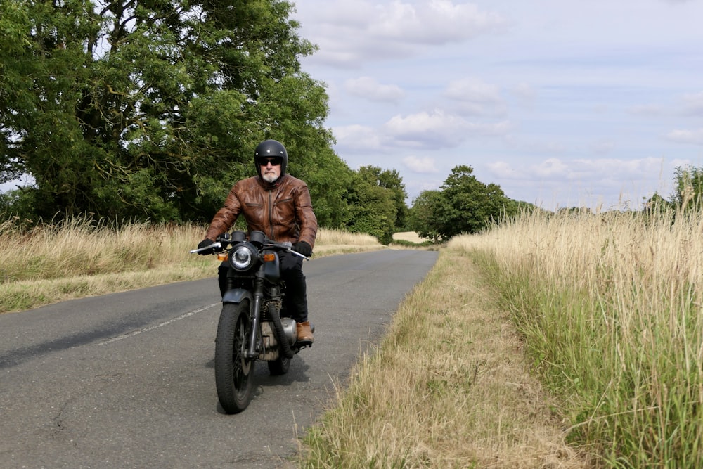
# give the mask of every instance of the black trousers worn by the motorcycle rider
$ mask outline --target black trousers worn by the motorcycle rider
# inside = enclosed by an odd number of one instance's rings
[[[286,316],[295,319],[296,322],[304,323],[307,318],[307,284],[303,275],[303,258],[290,252],[279,252],[280,276],[285,282],[285,297],[283,297],[283,309]],[[217,269],[217,281],[219,281],[220,293],[224,296],[227,288],[227,271],[229,264],[222,262]]]

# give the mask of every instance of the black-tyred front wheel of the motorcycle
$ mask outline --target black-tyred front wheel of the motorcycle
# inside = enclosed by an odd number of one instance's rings
[[[226,413],[241,412],[252,401],[254,360],[244,356],[250,327],[249,301],[224,304],[215,341],[215,385]]]

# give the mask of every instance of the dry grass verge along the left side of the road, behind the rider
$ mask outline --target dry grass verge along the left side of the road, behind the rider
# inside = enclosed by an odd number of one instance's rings
[[[76,217],[27,229],[0,224],[0,313],[89,295],[217,274],[212,256],[188,253],[204,226],[112,224]],[[321,229],[315,256],[383,248],[376,238]]]

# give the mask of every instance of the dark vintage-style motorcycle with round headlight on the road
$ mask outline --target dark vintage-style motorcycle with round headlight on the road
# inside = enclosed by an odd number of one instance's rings
[[[256,361],[266,361],[271,375],[283,375],[293,356],[311,347],[297,342],[295,321],[281,311],[285,282],[278,253],[308,257],[262,231],[252,231],[248,238],[243,231],[224,233],[191,254],[209,249],[229,264],[215,340],[217,397],[226,413],[239,413],[254,397]]]

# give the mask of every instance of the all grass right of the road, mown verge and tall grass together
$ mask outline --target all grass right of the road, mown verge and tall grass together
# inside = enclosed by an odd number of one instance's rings
[[[531,214],[454,238],[300,464],[703,467],[701,226]]]

